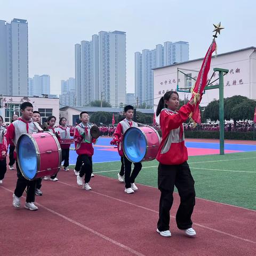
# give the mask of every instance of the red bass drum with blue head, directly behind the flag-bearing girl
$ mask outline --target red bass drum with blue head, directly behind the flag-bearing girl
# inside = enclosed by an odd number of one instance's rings
[[[160,137],[153,127],[131,127],[124,133],[123,151],[133,163],[154,160],[159,146]]]

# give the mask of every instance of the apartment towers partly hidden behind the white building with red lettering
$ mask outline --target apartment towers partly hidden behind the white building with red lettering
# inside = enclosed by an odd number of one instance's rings
[[[135,52],[135,99],[153,107],[154,80],[153,68],[183,62],[189,59],[188,42],[165,42],[157,44],[154,50]]]

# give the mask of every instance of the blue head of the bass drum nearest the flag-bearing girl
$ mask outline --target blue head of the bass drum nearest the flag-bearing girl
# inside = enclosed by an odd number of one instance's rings
[[[141,162],[146,155],[147,141],[142,131],[136,127],[129,128],[124,134],[123,150],[125,156],[133,163]]]

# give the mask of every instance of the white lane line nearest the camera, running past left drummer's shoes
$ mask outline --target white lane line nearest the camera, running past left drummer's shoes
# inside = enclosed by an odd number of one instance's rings
[[[63,183],[63,182],[60,182],[60,183]],[[66,184],[66,185],[67,185],[67,184]],[[5,187],[3,187],[3,186],[1,186],[1,188],[3,188],[3,189],[5,189],[5,190],[7,190],[7,191],[13,193],[12,190],[7,189],[7,188],[5,188]],[[22,197],[25,198],[24,196],[22,196]],[[97,236],[99,236],[99,237],[105,239],[106,241],[108,241],[108,242],[110,242],[110,243],[113,243],[113,244],[115,244],[115,245],[121,247],[122,249],[125,249],[126,251],[129,251],[129,252],[133,253],[134,255],[137,255],[137,256],[145,256],[145,254],[142,254],[142,253],[140,253],[140,252],[137,252],[137,251],[133,250],[132,248],[130,248],[130,247],[124,245],[124,244],[121,244],[121,243],[115,241],[114,239],[111,239],[110,237],[105,236],[105,235],[103,235],[103,234],[101,234],[101,233],[95,231],[94,229],[91,229],[91,228],[89,228],[89,227],[86,227],[86,226],[84,226],[82,223],[79,223],[79,222],[77,222],[77,221],[75,221],[75,220],[73,220],[73,219],[70,219],[70,218],[66,217],[65,215],[63,215],[63,214],[61,214],[61,213],[58,213],[58,212],[56,212],[56,211],[54,211],[54,210],[52,210],[52,209],[50,209],[50,208],[48,208],[48,207],[46,207],[46,206],[44,206],[44,205],[42,205],[42,204],[39,204],[39,203],[36,203],[36,204],[37,204],[38,206],[42,207],[43,209],[45,209],[45,210],[47,210],[47,211],[49,211],[49,212],[51,212],[51,213],[57,215],[58,217],[60,217],[60,218],[62,218],[62,219],[65,219],[65,220],[67,220],[67,221],[69,221],[69,222],[75,224],[76,226],[81,227],[81,228],[83,228],[83,229],[85,229],[85,230],[87,230],[87,231],[90,231],[90,232],[93,233],[94,235],[97,235]]]

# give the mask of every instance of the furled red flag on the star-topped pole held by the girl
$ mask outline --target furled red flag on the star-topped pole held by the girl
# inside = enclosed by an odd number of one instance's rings
[[[212,53],[216,50],[216,43],[213,39],[202,63],[201,69],[199,71],[198,77],[196,79],[196,83],[194,89],[192,91],[192,98],[194,98],[194,102],[196,102],[195,110],[192,114],[192,119],[194,122],[201,124],[201,117],[199,115],[199,103],[201,102],[202,95],[204,92],[204,88],[207,84],[207,75],[209,73],[209,69],[211,66]]]

